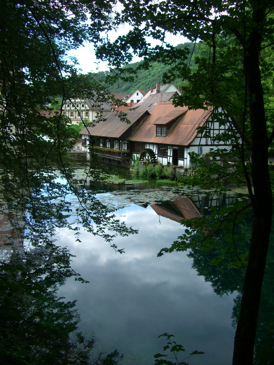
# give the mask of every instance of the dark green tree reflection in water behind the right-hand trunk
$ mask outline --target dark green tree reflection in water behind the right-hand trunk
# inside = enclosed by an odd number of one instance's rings
[[[249,237],[251,234],[252,220],[246,214],[244,220],[237,223],[235,234],[246,235],[246,253],[248,253]],[[226,244],[225,234],[220,231],[217,235],[218,241]],[[270,242],[273,242],[274,233],[271,234]],[[220,245],[208,247],[208,250],[200,247],[191,248],[187,254],[193,258],[193,268],[198,275],[204,276],[205,281],[212,283],[214,292],[217,295],[224,295],[238,291],[234,299],[235,306],[232,310],[232,325],[236,327],[237,318],[241,303],[241,287],[243,285],[245,268],[233,268],[227,265],[225,254],[220,250]],[[220,263],[220,255],[224,257],[224,263]],[[229,255],[231,255],[229,253]],[[218,264],[214,260],[218,258]],[[260,313],[254,347],[254,365],[274,364],[274,249],[273,244],[269,246],[267,255],[267,268],[263,281],[262,296],[260,301]]]

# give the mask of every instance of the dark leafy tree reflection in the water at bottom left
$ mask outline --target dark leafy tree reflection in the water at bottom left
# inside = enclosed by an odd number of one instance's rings
[[[95,338],[78,331],[76,301],[57,296],[67,278],[83,281],[70,267],[69,251],[52,245],[0,254],[1,364],[91,364]],[[92,364],[105,358],[114,365],[122,356],[102,354]]]

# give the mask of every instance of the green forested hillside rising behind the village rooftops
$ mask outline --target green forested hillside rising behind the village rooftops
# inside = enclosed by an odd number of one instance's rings
[[[186,63],[190,65],[190,68],[194,67],[194,58],[195,55],[199,52],[199,44],[195,44],[191,42],[180,44],[176,47],[177,49],[183,49],[183,48],[189,48],[189,55],[186,59]],[[133,64],[130,64],[128,66],[125,66],[125,68],[132,67],[133,69],[136,69],[140,64],[142,64],[144,61],[135,62]],[[108,85],[106,82],[104,82],[102,79],[104,79],[106,76],[109,75],[109,71],[101,71],[96,74],[92,74],[92,76],[95,78],[95,80],[103,81],[104,86],[109,86],[111,91],[113,92],[128,92],[133,93],[136,88],[149,91],[151,87],[156,87],[156,82],[160,82],[163,84],[163,74],[170,70],[172,65],[165,65],[162,62],[152,61],[150,63],[151,67],[149,69],[141,69],[138,71],[136,75],[136,80],[134,82],[129,81],[123,81],[119,79],[115,82],[113,85]],[[177,78],[174,81],[174,84],[178,87],[179,85],[182,85],[182,80],[180,78]]]

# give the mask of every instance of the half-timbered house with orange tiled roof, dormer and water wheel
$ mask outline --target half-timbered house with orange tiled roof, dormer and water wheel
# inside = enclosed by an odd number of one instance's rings
[[[140,129],[132,136],[132,151],[136,157],[144,149],[150,149],[163,165],[173,164],[188,168],[189,152],[209,153],[210,149],[230,148],[229,142],[218,142],[214,137],[228,126],[213,120],[213,108],[189,110],[174,107],[172,101],[157,103]],[[207,127],[207,133],[197,131]]]

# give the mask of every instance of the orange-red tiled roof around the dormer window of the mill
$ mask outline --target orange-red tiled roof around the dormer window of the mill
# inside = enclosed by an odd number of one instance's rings
[[[172,101],[158,103],[150,112],[140,129],[132,136],[132,141],[188,146],[197,135],[197,128],[203,126],[210,110],[189,110],[188,107],[174,107]],[[182,117],[166,137],[156,137],[156,124],[167,124]],[[158,122],[157,122],[158,121]]]

